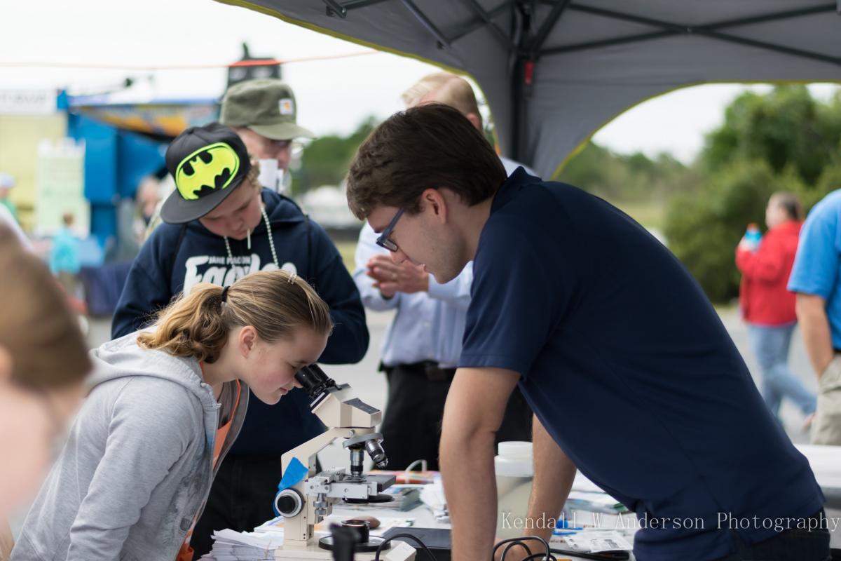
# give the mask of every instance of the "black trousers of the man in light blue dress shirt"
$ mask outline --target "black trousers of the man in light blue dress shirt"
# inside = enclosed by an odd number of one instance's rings
[[[425,368],[426,367],[426,368]],[[444,402],[454,369],[439,370],[423,363],[385,367],[389,379],[389,402],[383,419],[383,449],[389,469],[405,469],[415,460],[426,460],[438,469],[438,443]],[[505,408],[496,443],[532,440],[532,410],[515,388]]]

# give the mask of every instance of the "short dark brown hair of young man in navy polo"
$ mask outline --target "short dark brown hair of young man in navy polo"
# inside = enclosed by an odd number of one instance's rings
[[[493,147],[458,109],[430,103],[386,119],[359,147],[347,176],[347,203],[365,219],[378,205],[420,211],[428,188],[448,188],[470,206],[505,181]]]

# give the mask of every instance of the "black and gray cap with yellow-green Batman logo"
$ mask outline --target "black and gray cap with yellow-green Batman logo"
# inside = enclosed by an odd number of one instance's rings
[[[197,220],[234,192],[251,169],[246,145],[224,124],[190,127],[167,148],[175,191],[161,208],[169,224]]]

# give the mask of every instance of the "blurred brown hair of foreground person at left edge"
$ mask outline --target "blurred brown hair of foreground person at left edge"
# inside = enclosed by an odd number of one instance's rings
[[[64,389],[91,369],[87,346],[66,296],[44,263],[0,226],[0,346],[12,378],[34,389]]]

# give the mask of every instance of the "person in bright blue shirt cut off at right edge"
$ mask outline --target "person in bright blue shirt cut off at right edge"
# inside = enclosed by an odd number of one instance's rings
[[[809,212],[788,288],[817,374],[812,444],[841,445],[841,190]]]

